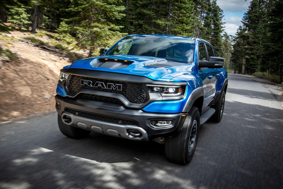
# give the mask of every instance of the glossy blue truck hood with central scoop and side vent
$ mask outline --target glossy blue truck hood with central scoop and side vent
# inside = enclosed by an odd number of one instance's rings
[[[127,65],[125,62],[130,64]],[[139,75],[153,80],[174,81],[172,80],[174,77],[193,72],[193,64],[171,62],[162,58],[149,56],[110,55],[84,58],[65,66],[63,69],[77,68],[108,71]]]

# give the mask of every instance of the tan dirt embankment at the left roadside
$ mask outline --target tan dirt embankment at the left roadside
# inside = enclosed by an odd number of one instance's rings
[[[4,35],[9,39],[0,40],[0,47],[18,58],[0,57],[0,121],[55,110],[60,69],[72,57],[15,40],[24,38],[24,32]]]

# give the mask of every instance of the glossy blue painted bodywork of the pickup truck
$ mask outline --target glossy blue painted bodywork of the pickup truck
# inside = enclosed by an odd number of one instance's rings
[[[130,35],[130,36],[158,36],[158,37],[167,37],[167,38],[179,38],[179,39],[181,38],[187,40],[195,40],[193,61],[192,63],[186,64],[184,66],[172,66],[165,68],[145,66],[144,65],[145,63],[160,58],[149,57],[149,56],[134,56],[134,55],[105,55],[109,50],[111,50],[111,48],[113,48],[114,46],[113,45],[102,56],[93,57],[88,60],[81,59],[75,61],[71,65],[65,66],[63,69],[68,70],[70,68],[75,68],[75,69],[98,70],[98,71],[144,76],[149,79],[158,80],[158,81],[187,82],[188,85],[187,85],[186,93],[182,100],[152,102],[151,104],[147,105],[142,109],[145,112],[180,113],[182,112],[185,103],[187,102],[188,97],[192,92],[192,90],[198,87],[203,87],[204,90],[206,90],[205,92],[208,92],[207,96],[205,97],[208,97],[209,101],[213,99],[216,95],[221,93],[223,82],[227,78],[227,71],[224,68],[201,69],[201,70],[198,69],[198,46],[199,43],[205,43],[206,45],[211,46],[210,43],[208,43],[207,41],[202,39],[187,38],[180,36],[168,36],[168,35]],[[133,63],[130,64],[129,66],[120,69],[110,69],[110,68],[92,66],[92,65],[96,65],[96,64],[92,64],[92,62],[96,62],[97,61],[96,59],[98,58],[121,59],[121,60],[133,61]],[[219,74],[219,76],[216,76],[216,74]],[[215,88],[211,90],[210,86],[213,85],[212,84],[213,82]],[[56,93],[63,97],[66,97],[63,88],[59,84],[57,85]],[[204,100],[204,105],[205,105],[205,100]]]

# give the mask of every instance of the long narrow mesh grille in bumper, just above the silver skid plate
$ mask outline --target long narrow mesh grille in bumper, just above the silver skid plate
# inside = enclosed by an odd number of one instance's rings
[[[100,115],[100,114],[95,114],[95,113],[90,113],[90,112],[84,112],[84,111],[75,110],[75,109],[71,109],[71,108],[65,108],[65,112],[68,112],[68,113],[71,113],[73,115],[77,115],[77,116],[80,116],[80,117],[83,117],[83,118],[103,121],[103,122],[107,122],[107,123],[115,123],[115,124],[119,124],[119,125],[138,126],[138,123],[136,121],[120,119],[120,118],[113,118],[113,117],[110,117],[110,116],[105,116],[105,115]]]

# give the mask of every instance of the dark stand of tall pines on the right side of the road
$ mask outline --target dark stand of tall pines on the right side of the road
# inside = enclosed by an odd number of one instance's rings
[[[234,37],[232,61],[239,73],[266,72],[279,75],[282,82],[282,4],[282,0],[251,1]]]

